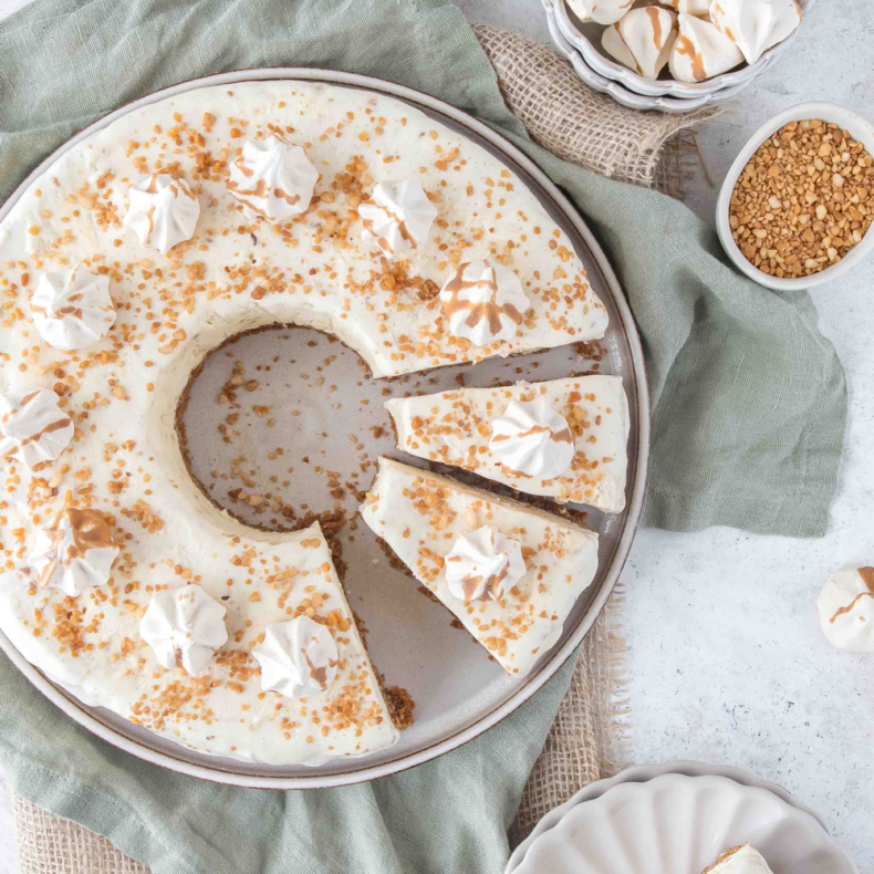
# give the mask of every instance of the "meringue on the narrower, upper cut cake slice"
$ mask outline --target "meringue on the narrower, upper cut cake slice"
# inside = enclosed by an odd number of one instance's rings
[[[568,420],[542,396],[510,400],[491,423],[489,449],[504,467],[538,479],[565,474],[575,451]]]

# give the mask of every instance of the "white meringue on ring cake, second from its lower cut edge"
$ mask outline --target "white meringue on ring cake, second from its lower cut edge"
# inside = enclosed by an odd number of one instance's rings
[[[199,674],[228,642],[226,613],[197,584],[165,589],[152,595],[139,634],[167,670],[183,667]]]

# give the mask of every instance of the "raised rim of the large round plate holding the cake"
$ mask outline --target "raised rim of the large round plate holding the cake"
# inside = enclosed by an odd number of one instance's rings
[[[52,164],[54,164],[60,155],[73,148],[75,145],[86,139],[92,134],[97,133],[98,131],[108,126],[116,118],[127,115],[144,106],[157,103],[158,101],[163,101],[189,91],[216,85],[241,84],[243,82],[260,82],[270,80],[296,80],[316,83],[322,82],[331,85],[360,87],[391,97],[399,97],[419,107],[426,107],[448,116],[457,124],[468,128],[469,131],[472,131],[478,136],[488,141],[489,144],[498,152],[516,162],[517,165],[524,169],[524,171],[534,179],[534,181],[551,198],[553,204],[560,209],[563,217],[572,225],[576,233],[580,235],[589,249],[590,257],[601,270],[607,290],[611,294],[611,299],[618,312],[621,327],[624,331],[628,344],[631,370],[637,395],[637,447],[635,458],[635,476],[633,481],[630,483],[631,495],[626,508],[626,520],[620,540],[616,544],[611,564],[608,565],[602,581],[601,589],[592,600],[589,608],[580,618],[576,627],[573,628],[564,644],[555,653],[553,653],[553,655],[538,672],[538,674],[531,677],[530,680],[526,681],[524,685],[513,693],[507,700],[495,707],[490,712],[483,715],[477,721],[467,726],[466,728],[462,728],[451,736],[436,741],[417,751],[406,753],[405,756],[378,764],[365,764],[362,768],[348,771],[327,774],[319,773],[316,771],[312,776],[306,774],[294,777],[268,777],[236,773],[233,770],[229,770],[228,767],[219,767],[219,762],[230,762],[232,766],[232,760],[228,759],[217,758],[217,764],[215,767],[188,762],[181,758],[176,758],[167,752],[153,749],[145,743],[141,743],[128,737],[125,737],[108,725],[103,724],[91,714],[86,712],[79,699],[74,698],[70,693],[66,693],[64,689],[55,686],[51,680],[49,680],[41,670],[39,670],[34,665],[23,657],[23,655],[9,639],[9,637],[2,631],[0,631],[0,648],[3,649],[15,667],[33,686],[37,687],[40,693],[42,693],[44,697],[46,697],[53,705],[60,708],[66,716],[71,717],[83,728],[87,729],[93,735],[96,735],[102,740],[105,740],[114,747],[124,750],[125,752],[136,756],[137,758],[148,761],[153,764],[168,768],[173,771],[230,785],[257,789],[325,789],[340,785],[350,785],[353,783],[364,782],[379,777],[387,777],[388,774],[398,773],[417,764],[423,764],[426,761],[436,759],[439,756],[464,746],[468,741],[487,731],[489,728],[492,728],[495,725],[513,712],[518,707],[524,704],[540,688],[542,688],[545,683],[572,656],[573,652],[580,645],[597,616],[601,614],[607,602],[607,599],[618,582],[620,574],[625,561],[628,558],[631,545],[639,524],[649,456],[649,395],[644,365],[643,344],[637,332],[631,308],[628,306],[618,279],[613,271],[606,254],[601,248],[601,244],[595,239],[589,226],[583,220],[580,212],[568,199],[568,197],[531,158],[529,158],[521,149],[506,139],[501,134],[498,134],[496,131],[489,127],[486,123],[480,122],[478,118],[464,112],[462,110],[459,110],[437,97],[433,97],[425,92],[410,89],[406,85],[398,85],[375,76],[363,75],[360,73],[346,73],[321,67],[272,66],[235,70],[225,73],[197,76],[178,82],[174,85],[169,85],[168,87],[150,92],[134,101],[125,103],[122,106],[118,106],[106,115],[101,116],[84,127],[82,131],[66,139],[58,148],[53,149],[28,174],[28,176],[7,198],[2,207],[0,207],[0,220],[6,218],[14,204],[22,197],[27,188]],[[184,750],[185,747],[180,746],[179,749]]]

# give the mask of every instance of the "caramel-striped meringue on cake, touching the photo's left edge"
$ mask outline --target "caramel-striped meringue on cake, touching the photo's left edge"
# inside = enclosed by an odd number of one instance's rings
[[[18,388],[0,395],[0,458],[14,456],[31,470],[54,461],[73,439],[73,419],[51,388]]]

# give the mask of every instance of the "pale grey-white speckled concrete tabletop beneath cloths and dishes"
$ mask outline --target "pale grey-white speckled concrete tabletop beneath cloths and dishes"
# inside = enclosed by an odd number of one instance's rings
[[[27,0],[0,0],[0,17]],[[549,43],[540,0],[456,0],[472,20]],[[712,226],[716,187],[747,138],[787,106],[840,103],[874,119],[874,3],[820,0],[780,62],[701,126],[687,202]],[[814,602],[828,574],[874,564],[874,259],[813,294],[850,385],[828,537],[642,531],[624,574],[636,762],[693,758],[785,785],[874,871],[874,656],[832,649]],[[0,874],[13,871],[0,795]],[[685,874],[685,873],[678,873]],[[823,874],[826,874],[823,872]]]

